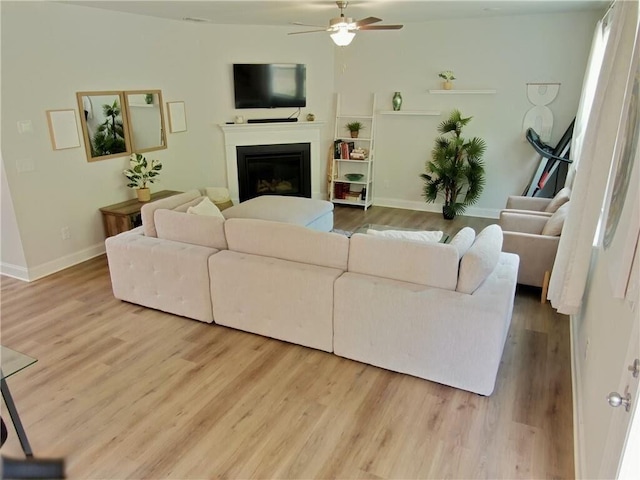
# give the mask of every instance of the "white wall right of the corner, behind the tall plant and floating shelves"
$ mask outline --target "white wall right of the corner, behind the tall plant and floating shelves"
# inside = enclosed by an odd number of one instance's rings
[[[511,194],[521,194],[538,166],[524,141],[522,120],[533,105],[528,82],[560,82],[549,105],[555,145],[576,114],[593,28],[600,12],[529,15],[407,24],[396,32],[361,32],[336,56],[336,91],[348,110],[377,93],[391,110],[394,91],[403,110],[438,110],[440,117],[377,118],[375,204],[439,211],[422,199],[424,172],[436,127],[458,108],[473,116],[465,137],[487,142],[487,184],[468,214],[495,216]],[[438,73],[453,70],[455,89],[496,89],[495,95],[433,95]],[[344,71],[344,72],[343,72]],[[354,98],[355,97],[355,98]]]

